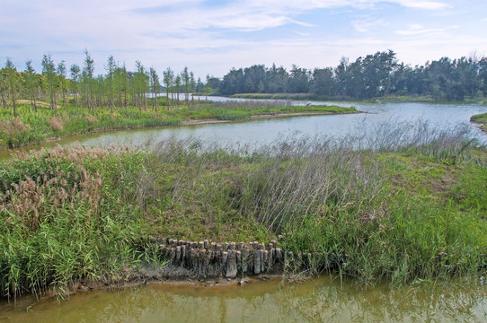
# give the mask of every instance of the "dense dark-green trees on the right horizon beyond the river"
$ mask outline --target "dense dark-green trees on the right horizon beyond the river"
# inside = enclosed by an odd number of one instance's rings
[[[276,65],[233,68],[219,92],[312,93],[328,99],[373,99],[387,95],[430,96],[434,100],[465,100],[487,95],[487,57],[443,57],[414,67],[399,63],[393,50],[342,58],[336,67],[290,71]]]

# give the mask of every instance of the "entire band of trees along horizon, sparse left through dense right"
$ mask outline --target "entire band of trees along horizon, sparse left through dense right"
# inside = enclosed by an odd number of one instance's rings
[[[359,57],[354,62],[342,58],[336,67],[306,69],[293,65],[288,71],[283,66],[252,65],[233,68],[223,79],[209,74],[206,80],[195,80],[184,67],[175,73],[167,67],[160,78],[154,67],[147,68],[140,61],[136,69],[128,71],[113,56],[103,68],[105,74],[94,74],[94,61],[84,51],[83,65],[71,65],[61,60],[58,64],[50,54],[42,57],[42,71],[35,71],[32,61],[19,72],[7,58],[0,70],[0,100],[4,109],[17,115],[17,100],[30,100],[34,111],[37,100],[49,100],[50,109],[58,104],[66,108],[66,95],[77,108],[104,107],[111,111],[133,106],[138,109],[157,109],[159,100],[148,100],[165,94],[165,105],[179,102],[179,94],[189,103],[190,93],[207,95],[219,93],[311,93],[327,99],[373,99],[387,95],[430,96],[434,100],[465,100],[487,95],[487,57],[443,57],[414,67],[399,63],[393,50]],[[149,106],[150,105],[150,106]]]

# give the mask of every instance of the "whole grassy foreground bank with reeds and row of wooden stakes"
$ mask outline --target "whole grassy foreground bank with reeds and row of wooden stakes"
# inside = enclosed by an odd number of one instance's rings
[[[0,162],[1,291],[63,293],[171,266],[194,279],[267,272],[257,254],[286,273],[328,268],[364,283],[485,274],[485,147],[461,129],[400,127],[365,151],[316,137],[252,153],[174,139],[19,153]],[[182,264],[188,244],[199,260]],[[239,263],[245,250],[252,262]]]

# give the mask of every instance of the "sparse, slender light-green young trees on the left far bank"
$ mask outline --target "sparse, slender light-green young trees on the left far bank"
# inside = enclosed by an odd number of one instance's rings
[[[208,95],[214,92],[211,83],[215,78],[207,75],[206,82],[195,80],[188,67],[181,73],[175,73],[171,67],[163,72],[163,78],[154,67],[147,68],[140,61],[136,62],[135,71],[128,71],[125,64],[118,64],[113,56],[103,68],[105,74],[94,74],[94,61],[90,53],[84,51],[83,65],[71,65],[61,60],[55,63],[50,54],[42,57],[42,71],[35,71],[32,61],[25,63],[23,71],[18,71],[11,59],[7,58],[0,70],[0,100],[4,109],[12,109],[16,117],[17,100],[30,100],[31,107],[37,111],[38,100],[49,100],[50,109],[66,108],[66,95],[71,95],[75,108],[88,109],[94,112],[97,108],[114,109],[133,106],[138,109],[157,109],[158,100],[150,100],[166,95],[165,105],[179,102],[179,93],[185,93],[186,103],[190,93]]]

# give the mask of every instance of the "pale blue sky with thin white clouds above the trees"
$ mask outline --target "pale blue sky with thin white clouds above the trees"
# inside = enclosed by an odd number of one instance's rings
[[[313,69],[392,49],[399,61],[487,55],[486,0],[0,0],[0,65],[44,54],[103,74],[109,56],[158,74],[223,77],[273,63]]]

